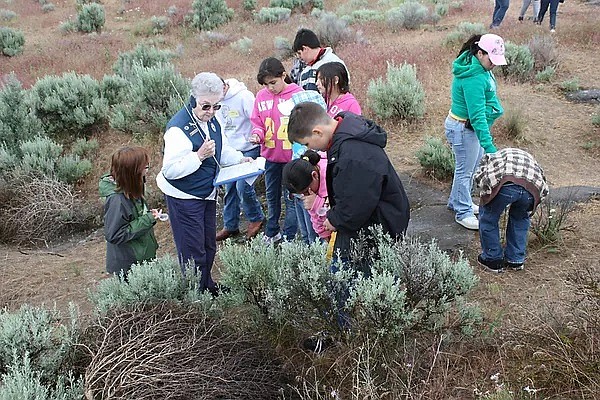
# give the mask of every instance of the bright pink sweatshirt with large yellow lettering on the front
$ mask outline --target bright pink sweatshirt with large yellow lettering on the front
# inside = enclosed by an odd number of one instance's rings
[[[260,138],[260,155],[268,161],[286,163],[292,159],[292,144],[287,138],[288,117],[279,112],[277,105],[301,91],[300,86],[290,83],[279,94],[267,88],[256,94],[250,122],[252,133]]]

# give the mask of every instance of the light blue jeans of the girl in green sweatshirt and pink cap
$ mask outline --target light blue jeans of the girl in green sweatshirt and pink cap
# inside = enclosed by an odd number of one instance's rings
[[[444,123],[446,139],[454,152],[454,179],[452,190],[448,198],[448,208],[454,210],[457,220],[473,216],[473,174],[483,156],[483,148],[479,144],[477,135],[465,128],[464,122],[456,121],[450,117]]]

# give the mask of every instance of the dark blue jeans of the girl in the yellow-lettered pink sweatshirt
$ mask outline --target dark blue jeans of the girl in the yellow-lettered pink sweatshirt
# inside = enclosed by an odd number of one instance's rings
[[[298,220],[296,219],[296,207],[294,201],[289,198],[289,192],[283,187],[282,172],[285,163],[275,163],[267,161],[265,165],[265,186],[267,191],[267,208],[269,215],[267,217],[267,226],[265,226],[265,235],[273,237],[280,231],[279,217],[281,216],[281,196],[285,201],[285,218],[283,220],[283,235],[286,240],[292,240],[298,230]]]

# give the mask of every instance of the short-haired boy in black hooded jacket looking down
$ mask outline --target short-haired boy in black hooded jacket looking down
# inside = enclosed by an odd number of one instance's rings
[[[327,151],[330,210],[325,227],[337,231],[334,250],[347,260],[359,232],[381,225],[394,238],[406,233],[410,210],[398,174],[383,150],[387,133],[373,121],[342,112],[331,118],[315,103],[294,107],[288,139]]]

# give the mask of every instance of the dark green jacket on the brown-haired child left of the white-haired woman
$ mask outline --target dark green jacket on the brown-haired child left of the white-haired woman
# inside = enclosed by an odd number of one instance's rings
[[[100,196],[104,203],[104,237],[106,271],[127,273],[132,264],[156,257],[158,243],[154,237],[156,220],[144,199],[130,200],[117,191],[112,176],[100,178]]]

